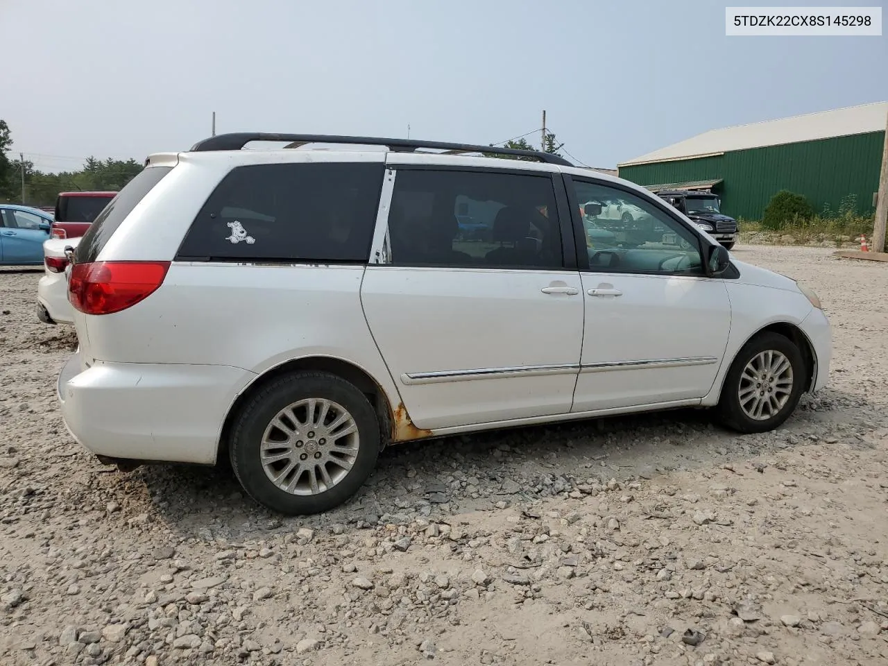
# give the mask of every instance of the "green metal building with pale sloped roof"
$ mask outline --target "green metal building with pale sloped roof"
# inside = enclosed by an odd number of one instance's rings
[[[876,207],[888,102],[707,131],[617,165],[648,189],[705,189],[733,218],[761,219],[781,189],[814,210]]]

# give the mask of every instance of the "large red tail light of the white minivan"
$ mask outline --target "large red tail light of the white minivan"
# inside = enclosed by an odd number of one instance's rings
[[[67,284],[67,298],[82,313],[119,313],[151,296],[163,284],[169,269],[169,261],[75,264]]]

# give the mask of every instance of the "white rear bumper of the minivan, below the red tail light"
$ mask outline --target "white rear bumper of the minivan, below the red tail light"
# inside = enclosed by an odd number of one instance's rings
[[[68,431],[97,456],[133,460],[214,464],[228,408],[255,377],[218,365],[81,363],[78,351],[59,374]]]

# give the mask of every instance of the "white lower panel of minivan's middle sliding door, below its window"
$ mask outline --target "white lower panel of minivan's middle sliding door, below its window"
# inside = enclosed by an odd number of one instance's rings
[[[575,295],[541,291],[553,285]],[[570,272],[369,266],[361,301],[413,423],[434,429],[569,412],[581,286]],[[528,367],[539,374],[503,373]],[[423,384],[404,377],[454,371],[474,372]]]

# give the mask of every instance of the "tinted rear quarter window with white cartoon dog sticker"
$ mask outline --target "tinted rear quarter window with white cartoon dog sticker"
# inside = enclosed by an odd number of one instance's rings
[[[384,172],[382,163],[237,167],[203,204],[177,258],[365,263]]]

